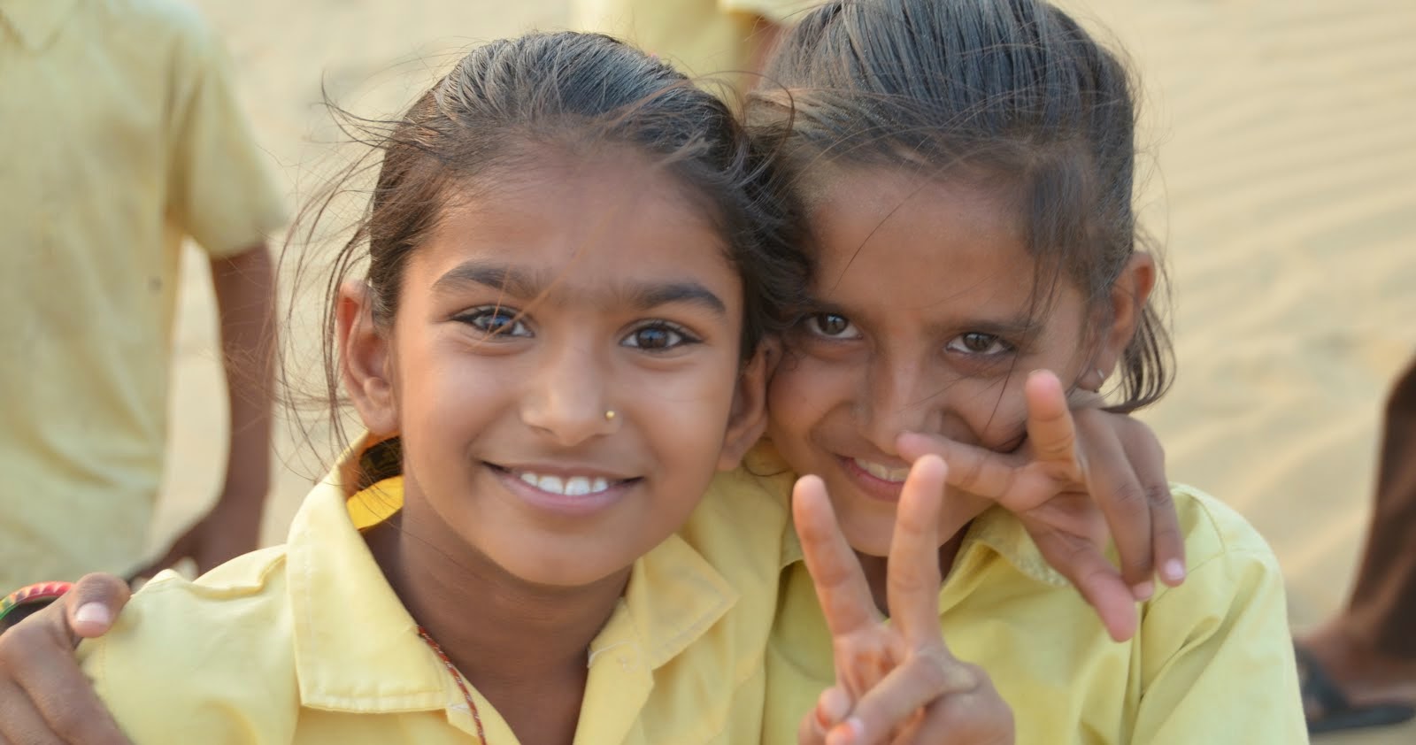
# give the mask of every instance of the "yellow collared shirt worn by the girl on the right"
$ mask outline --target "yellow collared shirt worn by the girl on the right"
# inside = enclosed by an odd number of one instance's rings
[[[1307,742],[1277,561],[1233,510],[1172,489],[1189,576],[1141,605],[1114,643],[1080,595],[1001,508],[969,528],[939,593],[944,642],[1008,701],[1018,745],[1294,745]],[[831,637],[800,544],[789,538],[767,649],[763,742],[834,684]]]

